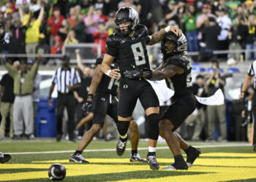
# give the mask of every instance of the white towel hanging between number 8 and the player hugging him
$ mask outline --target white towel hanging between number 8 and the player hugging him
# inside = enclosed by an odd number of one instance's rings
[[[151,84],[151,86],[154,89],[154,92],[156,92],[159,103],[165,102],[174,95],[174,91],[170,90],[167,87],[165,79],[162,79],[160,81],[151,81],[146,79],[146,81],[148,81],[148,83]]]

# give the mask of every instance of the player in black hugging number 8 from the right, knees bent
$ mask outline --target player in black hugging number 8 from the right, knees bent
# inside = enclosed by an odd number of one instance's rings
[[[187,170],[199,157],[200,149],[189,146],[177,132],[182,122],[192,114],[196,107],[196,99],[192,91],[191,62],[187,58],[187,39],[184,35],[176,36],[169,32],[161,42],[164,55],[162,64],[155,71],[126,71],[124,76],[129,79],[146,78],[151,80],[167,79],[175,94],[173,104],[167,108],[160,119],[160,133],[173,153],[174,164],[163,170]],[[187,162],[181,155],[181,149],[187,154]]]

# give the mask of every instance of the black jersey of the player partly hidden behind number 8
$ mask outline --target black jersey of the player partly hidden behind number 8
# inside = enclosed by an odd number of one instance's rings
[[[102,64],[103,58],[104,55],[101,55],[99,58],[97,58],[96,65]],[[118,68],[116,65],[116,61],[114,61],[110,67],[111,69]],[[108,92],[110,94],[117,95],[118,85],[119,79],[112,79],[109,76],[103,74],[102,80],[99,83],[96,92]]]

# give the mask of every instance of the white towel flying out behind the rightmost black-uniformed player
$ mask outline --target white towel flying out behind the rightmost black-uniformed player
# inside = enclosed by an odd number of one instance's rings
[[[224,95],[222,93],[222,90],[218,89],[214,95],[211,95],[211,97],[208,98],[200,98],[195,95],[195,98],[199,103],[202,103],[204,105],[209,106],[219,106],[224,104]]]

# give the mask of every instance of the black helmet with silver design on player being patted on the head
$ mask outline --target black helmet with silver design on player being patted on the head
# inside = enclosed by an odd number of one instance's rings
[[[165,41],[172,41],[173,44],[176,45],[176,47],[173,49],[173,52],[170,52],[166,54],[165,52],[167,51],[165,47]],[[165,34],[164,38],[161,41],[161,52],[164,56],[171,55],[173,53],[183,53],[187,54],[187,38],[184,36],[182,33],[181,36],[176,36],[175,33],[172,31],[169,31],[168,33]]]

